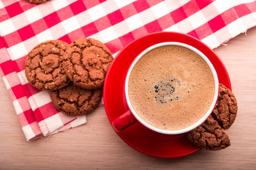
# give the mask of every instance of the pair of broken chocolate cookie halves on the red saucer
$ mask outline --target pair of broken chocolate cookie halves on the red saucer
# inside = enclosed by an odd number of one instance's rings
[[[206,150],[221,150],[230,146],[229,136],[224,132],[236,119],[237,102],[226,86],[219,84],[218,101],[212,114],[197,128],[187,133],[188,139]]]

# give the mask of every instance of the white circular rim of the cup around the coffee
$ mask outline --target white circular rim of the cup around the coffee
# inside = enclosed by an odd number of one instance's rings
[[[194,51],[195,53],[197,53],[200,57],[202,57],[204,59],[204,61],[207,63],[207,65],[211,69],[212,75],[213,75],[213,79],[214,79],[214,84],[215,84],[215,91],[214,91],[214,96],[213,96],[212,104],[209,107],[208,111],[205,113],[205,115],[198,122],[196,122],[194,125],[191,125],[189,127],[186,127],[184,129],[180,129],[180,130],[163,130],[163,129],[159,129],[157,127],[154,127],[152,125],[149,125],[147,122],[145,122],[143,119],[141,119],[140,116],[134,111],[134,108],[131,105],[131,101],[130,101],[129,94],[128,94],[129,78],[130,78],[130,75],[131,75],[131,71],[134,68],[134,65],[136,65],[136,63],[140,60],[140,58],[143,57],[149,51],[153,50],[154,48],[158,48],[158,47],[166,46],[166,45],[176,45],[176,46],[185,47],[185,48],[188,48],[189,50]],[[159,43],[159,44],[152,45],[151,47],[145,49],[134,60],[134,62],[132,63],[132,65],[129,68],[128,74],[126,75],[126,79],[125,79],[125,97],[126,97],[126,101],[127,101],[128,107],[130,108],[130,110],[133,113],[133,115],[135,116],[135,118],[140,123],[142,123],[143,125],[148,127],[149,129],[154,130],[154,131],[159,132],[159,133],[164,133],[164,134],[186,133],[186,132],[188,132],[188,131],[190,131],[192,129],[195,129],[199,125],[201,125],[207,119],[207,117],[212,113],[212,111],[213,111],[213,109],[215,107],[217,98],[218,98],[218,75],[217,75],[217,73],[215,71],[215,68],[213,67],[212,63],[210,62],[210,60],[201,51],[199,51],[198,49],[196,49],[196,48],[194,48],[194,47],[192,47],[190,45],[181,43],[181,42],[162,42],[162,43]]]

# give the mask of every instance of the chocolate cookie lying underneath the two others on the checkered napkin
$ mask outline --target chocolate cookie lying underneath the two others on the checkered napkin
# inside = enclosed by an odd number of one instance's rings
[[[99,105],[102,89],[87,90],[70,83],[64,88],[50,91],[52,103],[61,112],[70,116],[84,115]]]

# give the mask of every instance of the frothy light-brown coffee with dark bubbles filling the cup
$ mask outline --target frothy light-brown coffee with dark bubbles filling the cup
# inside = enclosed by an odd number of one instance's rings
[[[175,45],[155,48],[134,66],[128,94],[134,111],[149,125],[180,130],[194,125],[212,104],[215,84],[197,53]]]

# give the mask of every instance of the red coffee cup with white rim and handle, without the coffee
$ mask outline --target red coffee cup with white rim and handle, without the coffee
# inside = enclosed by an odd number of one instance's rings
[[[196,122],[195,124],[186,127],[184,129],[180,129],[180,130],[163,130],[163,129],[159,129],[157,127],[154,127],[152,125],[149,125],[147,122],[145,122],[143,119],[140,118],[140,116],[134,111],[134,108],[131,105],[131,101],[129,99],[129,94],[128,94],[128,82],[129,82],[129,78],[131,75],[131,71],[134,68],[134,65],[136,65],[136,63],[140,60],[141,57],[143,57],[146,53],[148,53],[149,51],[153,50],[154,48],[158,48],[161,46],[166,46],[166,45],[177,45],[177,46],[181,46],[184,48],[188,48],[191,51],[194,51],[195,53],[197,53],[202,59],[204,59],[204,61],[207,63],[207,65],[209,66],[210,70],[212,71],[212,75],[213,75],[213,79],[214,79],[214,84],[215,84],[215,91],[214,91],[214,96],[212,99],[212,103],[208,109],[208,111],[205,113],[205,115],[198,120],[198,122]],[[128,111],[126,111],[125,113],[123,113],[121,116],[119,116],[118,118],[116,118],[113,122],[113,128],[116,131],[121,131],[123,129],[125,129],[126,127],[129,127],[130,125],[134,124],[135,122],[139,122],[141,124],[143,124],[145,127],[154,130],[158,133],[163,133],[163,134],[180,134],[180,133],[186,133],[196,127],[198,127],[199,125],[201,125],[208,117],[209,115],[212,113],[217,99],[218,99],[218,90],[219,90],[219,86],[218,86],[218,75],[215,71],[215,68],[213,67],[212,63],[209,61],[209,59],[201,52],[199,51],[197,48],[192,47],[191,45],[188,44],[184,44],[181,42],[162,42],[162,43],[158,43],[155,45],[152,45],[151,47],[145,49],[143,52],[141,52],[132,62],[126,78],[125,78],[125,99],[128,105]]]

